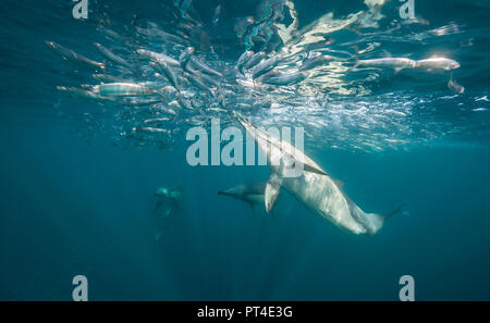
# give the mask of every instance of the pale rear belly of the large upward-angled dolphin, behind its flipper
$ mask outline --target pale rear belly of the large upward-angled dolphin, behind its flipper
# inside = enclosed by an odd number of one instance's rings
[[[324,175],[304,172],[297,178],[284,178],[283,187],[318,215],[355,234],[365,234],[366,228],[355,221],[342,191]]]

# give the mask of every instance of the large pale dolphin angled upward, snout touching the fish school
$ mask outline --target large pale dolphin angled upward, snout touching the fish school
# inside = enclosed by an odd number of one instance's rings
[[[301,150],[258,128],[242,114],[234,112],[234,115],[267,157],[271,171],[265,190],[267,213],[272,210],[281,188],[290,191],[315,214],[356,235],[375,235],[387,218],[400,211],[397,209],[384,216],[364,212],[342,191],[342,183],[331,178]],[[291,172],[292,164],[303,165],[294,176]]]

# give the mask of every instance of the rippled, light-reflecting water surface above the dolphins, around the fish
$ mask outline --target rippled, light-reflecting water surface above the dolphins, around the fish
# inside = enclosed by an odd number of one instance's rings
[[[265,127],[304,126],[311,145],[318,147],[379,151],[451,142],[488,145],[489,102],[485,86],[488,55],[485,50],[489,42],[481,33],[487,26],[478,25],[482,20],[458,22],[454,16],[443,22],[439,17],[430,22],[418,8],[416,20],[403,21],[397,16],[396,7],[375,1],[343,14],[329,11],[326,4],[321,16],[302,23],[299,9],[303,7],[296,8],[293,1],[252,4],[256,5],[257,13],[247,21],[246,16],[232,15],[235,13],[232,10],[241,13],[243,8],[226,2],[223,5],[228,5],[228,15],[218,15],[213,24],[208,16],[212,14],[212,8],[209,8],[212,3],[195,9],[187,1],[163,2],[157,5],[161,16],[156,18],[152,17],[155,12],[151,16],[145,15],[150,13],[149,4],[126,9],[95,1],[90,5],[89,20],[76,23],[76,28],[84,30],[84,37],[79,39],[64,35],[76,32],[57,30],[53,25],[56,18],[70,18],[66,14],[70,5],[54,4],[52,12],[37,14],[36,8],[25,4],[24,10],[33,18],[51,25],[46,28],[46,39],[34,34],[33,45],[27,45],[27,39],[15,39],[26,41],[25,46],[33,47],[33,51],[15,53],[7,50],[12,57],[4,60],[8,69],[3,73],[9,76],[15,69],[33,67],[34,76],[46,82],[34,86],[28,85],[29,80],[23,83],[25,88],[30,88],[28,92],[39,98],[47,98],[54,86],[95,86],[99,82],[91,74],[101,72],[121,80],[156,83],[162,97],[115,103],[87,101],[86,111],[71,111],[71,101],[76,99],[63,97],[52,102],[51,111],[42,111],[86,119],[90,124],[94,113],[102,113],[105,121],[97,116],[97,122],[103,124],[109,136],[117,141],[136,140],[137,145],[156,140],[161,141],[162,147],[169,147],[175,140],[182,140],[188,126],[206,125],[210,117],[229,120],[228,112],[233,110],[245,112]],[[475,8],[480,8],[478,5]],[[478,14],[487,16],[488,8],[481,7]],[[16,23],[15,17],[3,21],[7,28]],[[22,23],[20,25],[22,27]],[[226,32],[220,33],[223,29]],[[57,53],[42,48],[45,40],[56,40],[93,60],[103,61],[93,47],[97,41],[134,67],[107,62],[106,71],[90,71],[63,61]],[[7,44],[4,41],[3,46]],[[183,83],[183,97],[195,112],[182,111],[175,101],[176,92],[164,80],[155,77],[149,60],[136,53],[136,49],[147,49],[179,60],[181,51],[188,46],[197,49],[196,57],[201,61],[224,73],[224,78],[219,80],[217,97],[192,87],[188,82]],[[331,60],[309,71],[309,77],[301,84],[269,86],[254,83],[247,73],[246,76],[236,73],[237,57],[245,49],[283,53],[284,59],[275,69],[281,72],[297,71],[310,51],[330,55]],[[446,71],[353,69],[356,60],[383,57],[420,60],[432,55],[444,55],[461,63],[461,69],[454,71],[454,78],[465,87],[465,94],[457,95],[448,88],[451,73]],[[179,76],[182,72],[176,70]],[[15,84],[15,75],[10,76]],[[168,131],[164,134],[133,134],[133,128],[161,115],[170,115],[172,120],[164,124]]]

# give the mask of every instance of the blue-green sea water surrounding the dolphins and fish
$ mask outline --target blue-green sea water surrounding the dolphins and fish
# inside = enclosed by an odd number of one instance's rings
[[[296,0],[292,40],[262,36],[254,45],[268,53],[308,46],[302,35],[319,22],[332,26],[362,12],[366,18],[348,29],[317,33],[335,40],[331,50],[360,59],[457,60],[463,95],[448,88],[448,72],[350,71],[353,60],[341,54],[339,65],[301,85],[250,97],[249,85],[224,77],[224,110],[264,126],[304,126],[306,152],[364,210],[404,206],[375,236],[340,231],[285,191],[271,215],[218,196],[266,181],[269,170],[188,165],[191,113],[167,125],[170,137],[128,136],[156,115],[57,90],[96,85],[98,72],[63,60],[46,40],[103,61],[97,41],[143,65],[136,48],[162,50],[161,39],[142,32],[155,26],[182,32],[203,60],[233,70],[248,46],[233,30],[236,18],[257,20],[269,2],[194,2],[201,27],[191,34],[173,1],[89,1],[86,21],[73,18],[70,1],[0,4],[0,299],[71,300],[72,278],[85,275],[90,300],[397,300],[400,277],[412,275],[418,300],[489,300],[488,2],[415,0],[418,23],[402,24],[397,1],[381,7],[380,17],[363,1]],[[181,48],[163,49],[179,58]],[[109,63],[107,73],[155,80],[147,66],[131,74]],[[187,95],[213,104],[195,89]],[[163,185],[179,187],[183,200],[157,240],[154,192]]]

